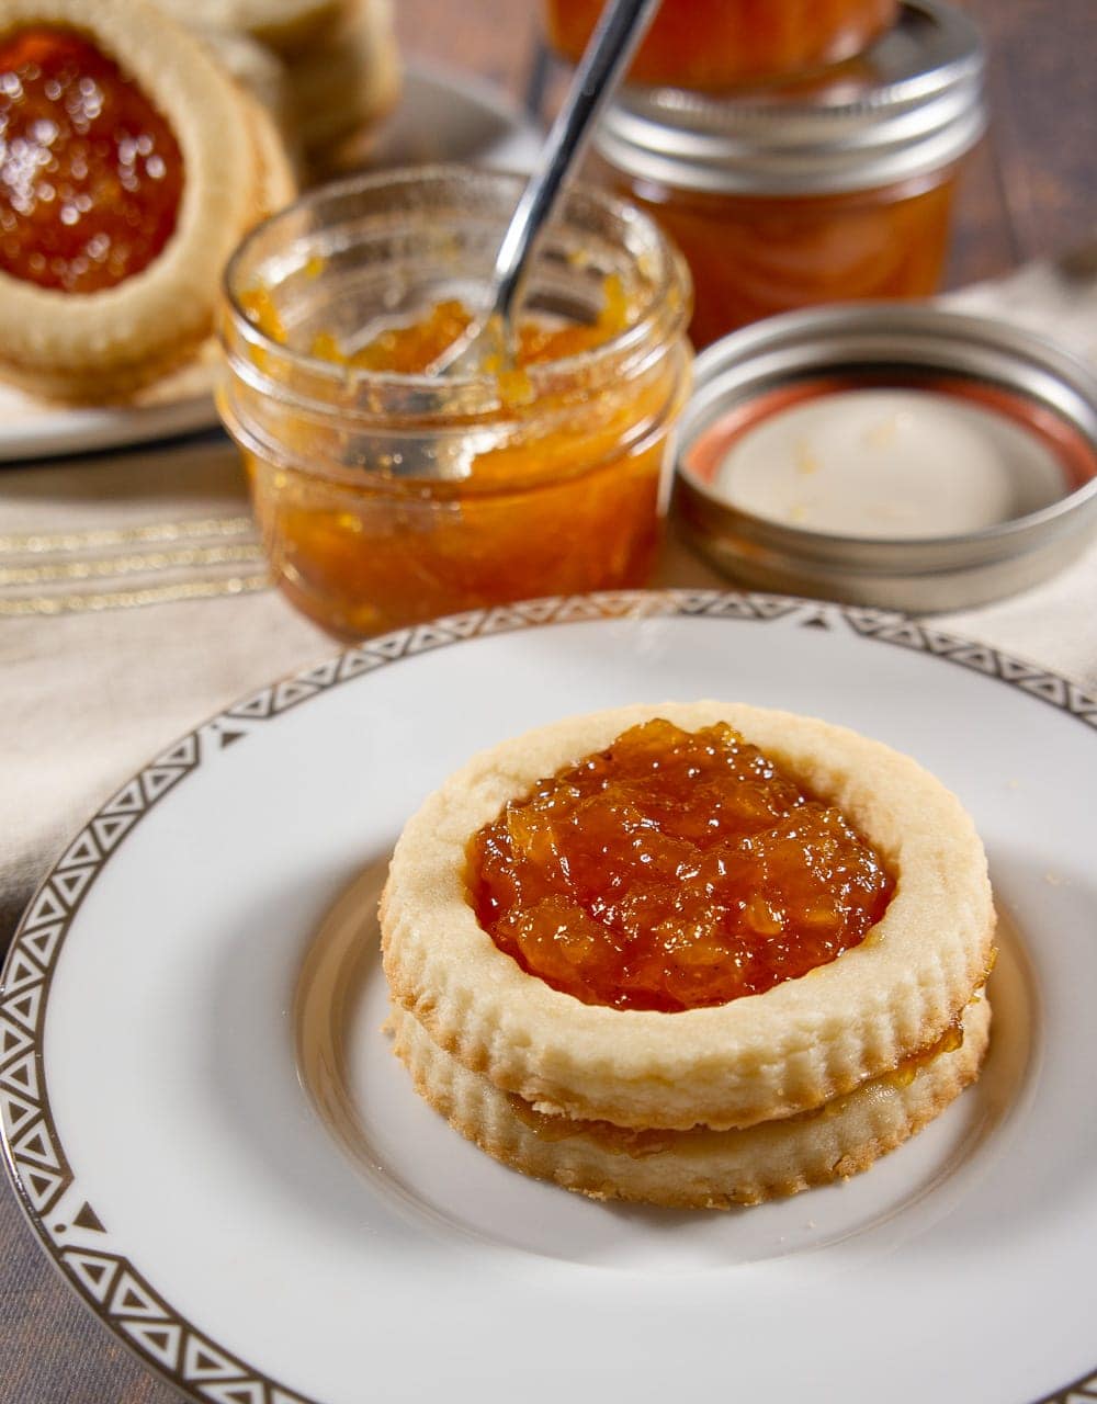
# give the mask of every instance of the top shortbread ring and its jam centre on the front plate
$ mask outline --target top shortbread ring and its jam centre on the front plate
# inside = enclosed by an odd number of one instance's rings
[[[662,740],[629,739],[653,719]],[[688,737],[714,727],[743,788],[709,776],[704,804],[676,809],[655,778],[677,768],[688,793]],[[541,876],[483,861],[500,824]],[[524,893],[503,911],[507,883]],[[827,934],[850,892],[853,927]],[[476,757],[409,820],[381,918],[393,1001],[438,1049],[535,1112],[645,1130],[844,1097],[947,1038],[993,963],[986,859],[954,795],[847,729],[719,702],[619,708]]]

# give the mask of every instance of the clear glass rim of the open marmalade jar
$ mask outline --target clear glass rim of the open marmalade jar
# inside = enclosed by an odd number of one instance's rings
[[[249,284],[254,286],[256,270],[250,270],[247,274],[244,270],[249,267],[249,260],[254,258],[257,246],[260,246],[263,240],[271,239],[272,233],[280,227],[291,225],[295,218],[301,218],[302,213],[317,211],[324,202],[350,201],[354,197],[381,191],[386,187],[410,188],[416,185],[433,185],[437,188],[445,188],[447,184],[458,185],[459,183],[468,181],[479,181],[483,185],[490,185],[496,190],[510,187],[514,192],[514,201],[517,204],[518,195],[521,194],[525,183],[525,176],[513,171],[496,171],[440,163],[431,166],[402,166],[383,171],[360,173],[306,191],[296,201],[256,225],[244,236],[229,260],[222,279],[222,291],[233,327],[243,336],[244,341],[260,348],[264,354],[277,355],[287,365],[299,366],[306,375],[326,380],[330,385],[339,385],[344,389],[347,386],[362,388],[364,390],[374,389],[381,393],[386,389],[412,393],[421,392],[428,396],[433,392],[437,392],[440,385],[444,383],[447,389],[451,389],[455,393],[461,393],[464,390],[473,399],[478,392],[486,392],[485,403],[478,406],[478,409],[499,409],[499,376],[494,372],[459,375],[445,378],[442,380],[442,378],[437,375],[406,375],[390,371],[368,371],[360,366],[347,366],[341,362],[315,357],[309,352],[277,341],[247,314],[247,310],[242,303],[242,295],[247,291]],[[583,183],[573,184],[565,194],[563,218],[556,223],[566,227],[567,212],[582,209],[583,205],[597,209],[603,215],[617,220],[621,229],[633,237],[639,233],[643,240],[643,247],[636,251],[635,261],[638,265],[642,261],[646,263],[650,270],[652,257],[655,256],[655,258],[657,258],[657,275],[652,277],[650,286],[645,289],[643,302],[639,307],[638,316],[635,319],[629,319],[628,324],[621,331],[607,337],[605,341],[596,347],[573,352],[559,359],[537,362],[525,368],[530,383],[535,390],[559,383],[567,383],[570,379],[590,379],[591,375],[597,375],[600,366],[605,366],[608,371],[608,368],[618,364],[622,358],[628,358],[631,354],[643,348],[652,336],[659,330],[660,322],[666,319],[669,293],[673,289],[680,289],[681,292],[677,320],[681,323],[683,329],[685,322],[688,322],[691,302],[691,278],[688,267],[685,265],[683,256],[674,247],[671,240],[662,232],[659,225],[628,201],[619,199],[603,190]],[[500,236],[504,223],[506,220],[500,222]],[[322,227],[324,226],[319,223],[317,229]],[[673,334],[673,330],[674,329],[669,329],[669,334]]]

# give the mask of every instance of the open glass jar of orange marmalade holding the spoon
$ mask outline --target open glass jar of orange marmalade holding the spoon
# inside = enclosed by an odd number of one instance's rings
[[[517,364],[430,373],[520,191],[455,167],[355,177],[229,265],[222,417],[277,583],[336,635],[646,580],[691,361],[688,271],[650,219],[573,191]]]

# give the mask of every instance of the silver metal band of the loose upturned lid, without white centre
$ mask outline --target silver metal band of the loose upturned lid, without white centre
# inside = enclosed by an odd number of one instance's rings
[[[903,388],[982,402],[1011,432],[1051,445],[1062,486],[1009,519],[920,536],[810,529],[735,505],[715,468],[701,466],[728,452],[722,425],[820,385],[820,393]],[[749,585],[907,611],[986,604],[1053,574],[1097,531],[1097,375],[1025,329],[931,306],[848,303],[770,317],[697,358],[673,511],[712,564]]]

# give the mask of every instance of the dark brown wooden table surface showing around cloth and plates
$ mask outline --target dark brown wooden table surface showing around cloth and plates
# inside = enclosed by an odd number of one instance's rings
[[[993,121],[961,194],[948,272],[954,286],[1066,253],[1097,234],[1097,0],[968,0],[966,8],[989,42]],[[535,49],[535,0],[396,0],[396,10],[409,56],[478,73],[521,98]],[[55,1276],[7,1185],[0,1189],[0,1400],[178,1398]]]

